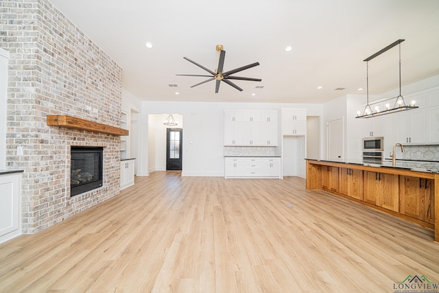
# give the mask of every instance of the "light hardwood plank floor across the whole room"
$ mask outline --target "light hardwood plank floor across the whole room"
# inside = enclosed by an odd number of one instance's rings
[[[0,244],[0,292],[394,292],[439,283],[433,231],[305,180],[153,172]]]

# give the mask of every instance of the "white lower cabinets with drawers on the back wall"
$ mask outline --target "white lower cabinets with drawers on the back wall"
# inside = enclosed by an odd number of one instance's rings
[[[281,178],[281,158],[271,156],[226,157],[225,178]]]

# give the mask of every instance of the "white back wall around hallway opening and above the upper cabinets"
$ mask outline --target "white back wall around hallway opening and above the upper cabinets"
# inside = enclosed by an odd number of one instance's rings
[[[274,103],[215,103],[215,102],[143,102],[141,113],[146,129],[141,145],[151,145],[150,139],[156,131],[151,114],[178,113],[182,115],[183,167],[182,176],[224,176],[224,110],[278,110],[281,108],[307,108],[308,115],[320,116],[321,104],[274,104]],[[157,150],[155,150],[156,152]],[[145,150],[143,150],[145,152]],[[149,153],[148,153],[149,152]],[[148,156],[154,152],[146,150],[141,165],[150,166]],[[147,168],[139,174],[147,176]]]

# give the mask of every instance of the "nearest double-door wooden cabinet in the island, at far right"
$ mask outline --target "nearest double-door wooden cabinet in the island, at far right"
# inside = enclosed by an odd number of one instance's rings
[[[434,224],[434,180],[401,176],[400,213]]]

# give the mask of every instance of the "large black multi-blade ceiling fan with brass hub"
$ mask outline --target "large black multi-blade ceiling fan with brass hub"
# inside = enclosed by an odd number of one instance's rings
[[[221,81],[226,82],[226,84],[228,84],[229,86],[233,86],[238,91],[243,91],[243,90],[239,86],[237,86],[236,84],[231,82],[230,80],[250,80],[252,82],[260,82],[261,81],[260,78],[243,78],[241,76],[232,76],[233,73],[237,73],[239,71],[243,71],[243,70],[258,66],[259,62],[254,62],[252,64],[249,64],[249,65],[246,65],[243,67],[239,67],[237,69],[232,69],[232,70],[223,72],[224,58],[226,57],[226,51],[224,51],[223,45],[217,45],[216,49],[217,49],[217,51],[219,51],[219,62],[218,62],[218,68],[215,69],[215,72],[211,71],[210,69],[207,69],[206,67],[198,64],[197,62],[195,62],[187,57],[183,57],[186,60],[188,60],[189,62],[192,62],[193,64],[197,65],[198,67],[201,67],[205,71],[211,73],[211,75],[199,75],[199,74],[177,74],[177,75],[180,75],[180,76],[200,76],[200,77],[209,78],[208,80],[204,80],[203,82],[200,82],[198,84],[194,84],[193,86],[191,86],[191,88],[193,88],[194,86],[199,86],[200,84],[204,84],[206,82],[211,82],[212,80],[216,80],[217,82],[215,84],[215,93],[218,93],[219,84],[221,84]]]

